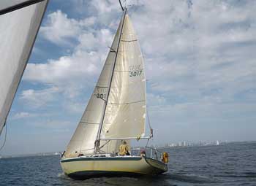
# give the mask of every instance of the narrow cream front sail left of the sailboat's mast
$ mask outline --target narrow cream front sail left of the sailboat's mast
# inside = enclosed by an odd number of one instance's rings
[[[64,158],[73,158],[77,157],[79,154],[91,155],[94,153],[94,142],[97,139],[99,125],[104,113],[105,100],[108,96],[108,86],[110,84],[113,64],[116,58],[116,53],[114,51],[116,51],[118,47],[121,23],[118,26],[116,36],[99,76],[97,85],[94,88],[94,93],[92,93],[80,123],[67,146]]]

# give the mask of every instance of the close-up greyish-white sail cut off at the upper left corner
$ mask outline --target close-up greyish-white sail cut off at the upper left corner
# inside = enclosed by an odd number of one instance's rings
[[[0,10],[24,1],[1,1]],[[0,15],[0,133],[29,60],[48,0]]]

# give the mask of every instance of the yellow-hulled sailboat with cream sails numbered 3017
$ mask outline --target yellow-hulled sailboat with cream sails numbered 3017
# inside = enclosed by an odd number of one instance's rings
[[[127,8],[122,9],[97,85],[60,160],[64,173],[73,179],[155,175],[167,171],[166,152],[162,160],[153,157],[152,149],[151,155],[118,155],[121,142],[130,145],[131,140],[153,137],[153,133],[145,136],[143,55]]]

